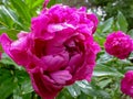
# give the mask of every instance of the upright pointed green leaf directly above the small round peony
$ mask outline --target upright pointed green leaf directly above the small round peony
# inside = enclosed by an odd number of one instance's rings
[[[127,31],[127,21],[121,11],[119,11],[116,18],[117,18],[116,26],[119,28],[119,30],[126,32]]]

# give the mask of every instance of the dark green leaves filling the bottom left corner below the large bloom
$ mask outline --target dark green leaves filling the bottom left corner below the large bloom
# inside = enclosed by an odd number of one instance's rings
[[[0,99],[35,99],[27,72],[6,54],[0,61]]]

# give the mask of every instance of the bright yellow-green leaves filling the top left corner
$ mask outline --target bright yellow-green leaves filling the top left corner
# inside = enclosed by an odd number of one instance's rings
[[[16,34],[29,31],[32,16],[37,15],[43,0],[1,0],[0,1],[0,33],[8,33],[11,38]]]

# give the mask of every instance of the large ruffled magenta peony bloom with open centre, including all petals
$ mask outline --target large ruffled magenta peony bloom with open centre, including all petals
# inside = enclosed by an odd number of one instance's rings
[[[28,70],[34,90],[53,99],[75,80],[91,80],[100,46],[92,34],[98,25],[85,8],[57,4],[32,19],[31,33],[19,33],[17,41],[2,34],[4,52]]]

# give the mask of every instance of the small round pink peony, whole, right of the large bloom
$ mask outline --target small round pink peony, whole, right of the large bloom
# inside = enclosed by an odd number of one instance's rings
[[[108,35],[105,41],[105,51],[120,58],[126,58],[133,51],[133,40],[122,31],[113,32]]]

